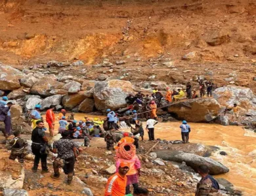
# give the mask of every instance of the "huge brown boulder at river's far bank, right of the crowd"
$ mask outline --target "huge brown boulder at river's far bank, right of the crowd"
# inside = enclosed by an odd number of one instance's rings
[[[220,110],[221,105],[213,98],[186,99],[168,107],[168,112],[175,118],[188,122],[209,122],[218,116]]]

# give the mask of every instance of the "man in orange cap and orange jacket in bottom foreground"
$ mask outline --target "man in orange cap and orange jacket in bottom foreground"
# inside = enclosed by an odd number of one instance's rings
[[[105,195],[104,196],[123,196],[125,195],[125,187],[127,184],[126,174],[129,172],[129,163],[120,163],[117,168],[118,171],[113,176],[108,178],[106,184]]]

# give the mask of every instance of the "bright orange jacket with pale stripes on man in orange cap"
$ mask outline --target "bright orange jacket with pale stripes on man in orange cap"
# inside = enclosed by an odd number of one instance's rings
[[[106,184],[105,196],[124,196],[125,187],[127,184],[127,177],[122,177],[118,172],[108,178]]]

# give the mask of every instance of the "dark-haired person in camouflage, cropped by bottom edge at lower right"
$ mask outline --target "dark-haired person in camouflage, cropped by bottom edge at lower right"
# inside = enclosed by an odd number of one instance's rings
[[[212,176],[209,175],[209,168],[207,165],[200,165],[198,167],[198,174],[202,176],[200,182],[196,186],[195,196],[204,195],[221,195],[219,192],[219,183]]]

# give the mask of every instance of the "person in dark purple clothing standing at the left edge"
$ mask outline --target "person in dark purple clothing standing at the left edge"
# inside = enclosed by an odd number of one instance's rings
[[[9,137],[12,131],[11,112],[10,112],[12,105],[13,104],[9,102],[6,105],[0,106],[0,121],[5,123],[5,130],[3,130],[3,135],[5,137]]]

